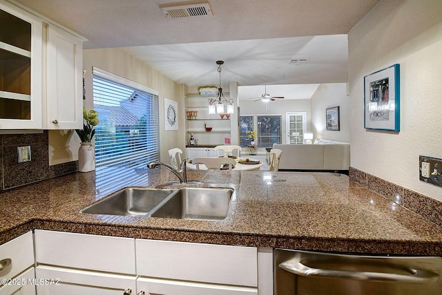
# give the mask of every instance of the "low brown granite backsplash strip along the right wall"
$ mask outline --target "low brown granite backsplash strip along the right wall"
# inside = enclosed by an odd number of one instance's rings
[[[442,226],[442,202],[353,167],[349,168],[349,178],[350,181],[362,184],[370,191],[387,198],[387,200],[394,201],[396,194],[402,196],[403,207],[436,225]]]

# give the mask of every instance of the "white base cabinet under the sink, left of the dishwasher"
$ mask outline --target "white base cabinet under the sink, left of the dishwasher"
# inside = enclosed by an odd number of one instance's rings
[[[37,285],[38,295],[122,295],[128,288],[133,295],[267,295],[258,286],[271,290],[271,256],[271,248],[35,230],[36,278],[59,279]]]

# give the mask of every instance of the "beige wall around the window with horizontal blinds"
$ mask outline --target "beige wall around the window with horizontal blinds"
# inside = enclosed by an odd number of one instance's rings
[[[184,108],[185,87],[176,84],[157,70],[143,64],[135,57],[118,48],[90,49],[83,51],[83,68],[86,70],[86,100],[84,105],[93,108],[92,67],[96,66],[115,75],[160,91],[160,157],[162,162],[169,162],[167,151],[179,147],[184,151],[184,116],[180,115],[177,131],[164,131],[164,97],[178,102],[178,108]],[[50,164],[59,164],[77,160],[79,139],[77,135],[66,135],[66,131],[50,131]]]

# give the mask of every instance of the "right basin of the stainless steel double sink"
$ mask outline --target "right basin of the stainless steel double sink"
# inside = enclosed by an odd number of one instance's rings
[[[222,220],[226,218],[233,189],[178,189],[152,211],[152,217],[192,220]]]

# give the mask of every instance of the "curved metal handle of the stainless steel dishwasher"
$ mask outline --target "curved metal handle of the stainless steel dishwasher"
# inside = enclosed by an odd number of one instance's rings
[[[342,269],[320,269],[308,267],[300,262],[287,261],[280,263],[279,267],[286,272],[298,276],[320,277],[320,278],[341,278],[349,280],[371,280],[379,282],[400,282],[410,284],[426,284],[434,282],[439,274],[423,269],[408,268],[410,274],[394,274],[383,272],[361,272]]]

